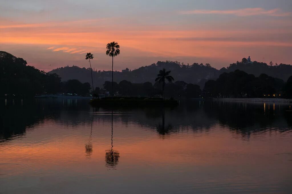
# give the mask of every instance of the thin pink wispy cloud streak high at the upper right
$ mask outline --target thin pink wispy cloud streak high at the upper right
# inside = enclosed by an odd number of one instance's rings
[[[253,15],[268,15],[284,17],[291,15],[291,12],[284,12],[283,10],[271,9],[265,10],[263,8],[244,8],[234,10],[209,10],[209,9],[196,9],[189,11],[180,11],[180,14],[219,14],[219,15],[237,15],[237,16],[253,16]]]

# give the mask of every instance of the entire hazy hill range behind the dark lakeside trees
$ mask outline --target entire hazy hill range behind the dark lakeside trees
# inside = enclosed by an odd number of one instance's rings
[[[210,64],[198,64],[192,65],[180,64],[178,61],[158,61],[156,64],[149,66],[142,66],[133,71],[114,72],[114,82],[119,83],[122,80],[127,80],[132,83],[144,83],[151,82],[154,84],[159,70],[165,68],[171,70],[171,75],[175,81],[184,81],[186,83],[198,84],[201,89],[207,80],[216,80],[220,74],[226,72],[232,72],[237,69],[243,70],[248,74],[259,76],[265,73],[272,77],[280,78],[284,81],[292,75],[292,66],[287,64],[279,64],[277,66],[269,66],[265,63],[254,61],[253,63],[238,62],[230,64],[227,68],[221,68],[220,70],[211,67]],[[56,73],[62,81],[71,79],[77,79],[80,82],[91,83],[90,68],[80,68],[78,66],[66,66],[54,69],[48,73]],[[105,81],[111,81],[111,71],[94,71],[93,72],[93,84],[96,87],[102,87]]]

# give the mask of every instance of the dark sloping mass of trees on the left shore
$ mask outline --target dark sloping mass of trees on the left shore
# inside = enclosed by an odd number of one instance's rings
[[[61,82],[55,73],[46,73],[10,53],[0,51],[0,95],[1,96],[35,96],[38,94],[56,94],[68,92],[85,95],[89,93],[90,84],[78,80]]]

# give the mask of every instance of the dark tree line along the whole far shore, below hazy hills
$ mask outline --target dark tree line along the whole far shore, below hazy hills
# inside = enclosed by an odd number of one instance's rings
[[[116,43],[115,43],[116,44]],[[244,65],[243,63],[237,66]],[[208,67],[205,67],[208,68]],[[232,67],[233,68],[233,67]],[[119,82],[104,82],[102,88],[95,89],[96,94],[118,93],[123,96],[165,96],[166,98],[199,98],[204,97],[281,97],[292,98],[292,77],[287,82],[275,77],[261,74],[258,77],[248,74],[242,70],[222,73],[216,80],[208,80],[201,91],[197,84],[184,81],[172,82],[173,79],[166,75],[170,71],[154,73],[154,80],[157,82],[131,83],[127,80]],[[172,75],[173,75],[172,71]],[[175,76],[173,76],[175,77]],[[177,79],[177,77],[175,77]],[[159,80],[168,80],[168,83]],[[32,66],[27,62],[7,52],[0,52],[0,80],[1,96],[26,95],[35,96],[38,94],[70,93],[79,95],[90,94],[91,84],[82,83],[79,80],[67,80],[61,82],[61,78],[54,73],[46,73]],[[92,81],[92,80],[91,80]],[[113,88],[113,89],[112,89]],[[164,94],[164,95],[163,95]],[[275,96],[274,96],[275,95]]]

